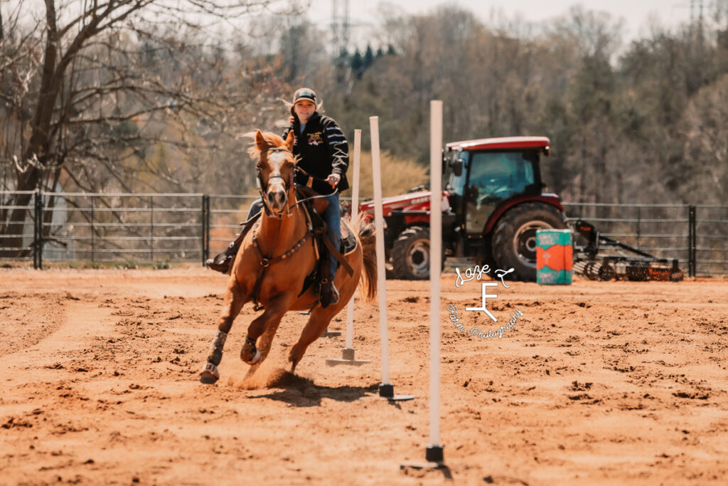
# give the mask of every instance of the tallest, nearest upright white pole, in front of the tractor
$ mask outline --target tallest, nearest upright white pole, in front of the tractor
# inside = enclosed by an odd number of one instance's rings
[[[430,445],[440,445],[440,267],[443,247],[443,102],[430,101]]]

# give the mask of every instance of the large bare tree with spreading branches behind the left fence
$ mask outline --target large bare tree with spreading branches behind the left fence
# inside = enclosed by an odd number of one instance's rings
[[[33,12],[21,0],[6,22],[0,20],[2,184],[24,192],[4,205],[28,205],[31,191],[55,190],[63,178],[93,190],[106,175],[124,189],[133,179],[124,171],[138,171],[124,160],[141,161],[159,179],[181,183],[179,168],[150,164],[140,152],[154,146],[153,139],[190,149],[189,133],[204,138],[200,120],[225,130],[225,114],[250,105],[247,93],[234,91],[240,87],[229,82],[234,73],[202,29],[224,24],[232,31],[234,19],[279,3],[45,0],[44,12]],[[34,17],[21,19],[24,8]],[[35,24],[26,26],[28,18]],[[194,179],[199,170],[188,176]],[[17,248],[25,210],[0,216],[0,247]]]

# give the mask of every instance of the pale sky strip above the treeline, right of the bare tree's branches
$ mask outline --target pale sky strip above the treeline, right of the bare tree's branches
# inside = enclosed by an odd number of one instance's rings
[[[320,26],[328,26],[335,0],[310,1],[309,17]],[[344,0],[336,1],[344,4]],[[708,0],[704,3],[707,5]],[[563,16],[569,11],[569,7],[581,4],[586,9],[608,12],[615,19],[624,19],[625,42],[628,42],[649,34],[648,19],[651,17],[659,18],[660,24],[668,28],[687,22],[690,18],[691,0],[396,0],[388,5],[381,0],[349,0],[349,22],[354,26],[352,38],[355,38],[357,32],[366,31],[376,25],[381,18],[378,12],[385,5],[385,8],[398,8],[408,14],[417,14],[427,13],[440,4],[455,4],[470,10],[486,25],[493,25],[494,13],[498,12],[502,12],[507,18],[518,15],[523,20],[536,23]]]

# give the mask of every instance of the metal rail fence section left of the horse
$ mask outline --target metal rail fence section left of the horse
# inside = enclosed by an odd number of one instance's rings
[[[18,192],[0,192],[0,197]],[[0,260],[205,262],[240,229],[255,196],[31,192],[23,232],[0,235]]]

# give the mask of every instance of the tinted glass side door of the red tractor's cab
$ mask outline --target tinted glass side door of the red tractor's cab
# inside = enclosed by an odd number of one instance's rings
[[[466,227],[483,232],[488,216],[502,201],[534,187],[533,161],[523,152],[479,152],[470,157]]]

